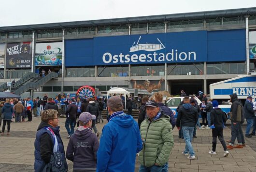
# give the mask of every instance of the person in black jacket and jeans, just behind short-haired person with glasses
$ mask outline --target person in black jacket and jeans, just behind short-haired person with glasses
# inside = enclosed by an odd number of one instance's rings
[[[68,105],[67,111],[66,111],[66,122],[65,127],[68,132],[68,137],[70,138],[71,135],[74,134],[74,127],[76,123],[76,114],[77,114],[77,106],[75,105],[75,99],[71,98],[71,103]]]

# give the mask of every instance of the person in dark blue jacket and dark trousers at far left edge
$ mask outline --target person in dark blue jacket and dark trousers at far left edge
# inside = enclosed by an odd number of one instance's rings
[[[10,135],[10,129],[11,129],[11,121],[13,118],[13,112],[14,109],[10,103],[10,99],[6,98],[5,103],[1,109],[2,112],[2,120],[3,120],[3,126],[2,126],[2,133],[1,135],[4,135],[5,125],[7,123],[7,135]]]

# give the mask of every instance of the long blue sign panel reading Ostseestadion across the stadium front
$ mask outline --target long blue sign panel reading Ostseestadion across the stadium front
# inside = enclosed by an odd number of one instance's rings
[[[245,30],[190,31],[65,41],[65,65],[244,61]]]

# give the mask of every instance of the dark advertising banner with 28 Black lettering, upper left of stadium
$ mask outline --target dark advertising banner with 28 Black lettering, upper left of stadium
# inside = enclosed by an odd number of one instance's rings
[[[31,42],[8,43],[6,49],[6,68],[31,68]]]

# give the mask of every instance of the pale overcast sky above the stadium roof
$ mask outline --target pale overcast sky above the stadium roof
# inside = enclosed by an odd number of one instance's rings
[[[256,7],[256,0],[1,0],[0,26]]]

